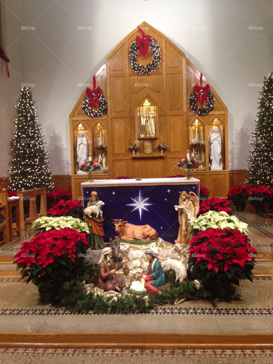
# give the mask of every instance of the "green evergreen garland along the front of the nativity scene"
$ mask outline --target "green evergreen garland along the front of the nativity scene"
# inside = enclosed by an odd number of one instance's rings
[[[162,292],[158,295],[148,294],[146,301],[143,296],[121,294],[113,297],[104,297],[95,295],[93,292],[87,294],[84,288],[84,282],[89,282],[91,277],[94,277],[96,284],[98,269],[94,266],[86,266],[79,264],[78,272],[75,272],[75,278],[64,288],[61,288],[55,296],[55,303],[58,306],[65,306],[66,309],[75,311],[92,311],[94,313],[149,313],[157,305],[172,303],[177,299],[185,298],[188,295],[196,298],[209,298],[210,294],[204,288],[197,288],[193,283],[175,282],[174,272],[166,272],[165,279],[172,286],[167,289],[167,292]]]

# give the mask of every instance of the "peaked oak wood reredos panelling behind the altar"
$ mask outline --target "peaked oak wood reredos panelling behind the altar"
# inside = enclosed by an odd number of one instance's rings
[[[102,94],[107,99],[108,113],[100,118],[91,118],[82,110],[85,87],[70,114],[73,198],[81,195],[80,183],[87,181],[86,175],[75,174],[74,130],[78,128],[79,123],[88,130],[94,130],[100,122],[107,129],[108,173],[97,174],[96,179],[114,179],[123,175],[130,178],[156,178],[185,174],[185,171],[174,167],[174,163],[185,157],[189,149],[189,125],[197,116],[191,112],[187,101],[193,92],[193,83],[200,82],[200,72],[185,54],[157,29],[145,22],[140,26],[148,29],[145,33],[159,42],[161,48],[159,68],[146,76],[138,75],[132,70],[128,55],[132,41],[139,35],[138,30],[134,29],[111,52],[96,73],[96,87],[101,88]],[[143,58],[138,60],[145,65]],[[150,61],[151,57],[146,63]],[[203,82],[207,83],[205,77]],[[92,89],[92,78],[90,84]],[[206,116],[198,116],[198,120],[204,126],[206,141],[209,125],[213,123],[215,117],[224,125],[225,170],[209,170],[208,142],[206,142],[206,170],[194,171],[193,176],[200,179],[201,186],[210,189],[211,196],[224,197],[229,188],[227,108],[214,88],[211,85],[210,87],[215,97],[214,110]],[[131,153],[127,149],[128,145],[133,144],[138,137],[135,126],[136,107],[142,106],[146,98],[151,105],[157,106],[159,124],[156,143],[162,141],[169,146],[165,158],[131,158]],[[159,154],[159,151],[156,153]]]

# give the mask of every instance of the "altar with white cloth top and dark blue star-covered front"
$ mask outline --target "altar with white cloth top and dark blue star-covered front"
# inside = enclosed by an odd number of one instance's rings
[[[104,202],[104,240],[118,235],[113,221],[128,221],[134,225],[149,225],[158,237],[174,243],[179,222],[178,205],[182,191],[194,192],[199,197],[199,179],[184,178],[143,178],[106,179],[81,183],[83,206],[86,208],[90,193],[96,191]]]

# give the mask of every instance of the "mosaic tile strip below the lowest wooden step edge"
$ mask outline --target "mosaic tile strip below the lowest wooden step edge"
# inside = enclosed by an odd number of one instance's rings
[[[232,356],[272,357],[272,350],[234,350],[234,349],[181,349],[181,350],[145,350],[145,349],[30,349],[30,348],[0,348],[0,354],[7,355],[62,355],[62,356],[178,356],[178,357],[201,357],[212,356],[228,358]]]

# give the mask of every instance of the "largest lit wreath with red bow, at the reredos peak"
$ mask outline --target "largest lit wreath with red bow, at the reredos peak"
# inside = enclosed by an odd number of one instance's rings
[[[160,47],[157,41],[154,40],[149,34],[145,35],[144,32],[140,27],[138,30],[142,34],[142,38],[137,35],[135,40],[131,44],[130,52],[129,52],[129,59],[132,69],[137,72],[139,75],[147,75],[151,72],[154,72],[159,67],[160,62]],[[146,66],[142,66],[137,61],[137,55],[139,51],[139,57],[141,56],[149,56],[148,49],[152,53],[154,53],[151,63],[146,64]]]

